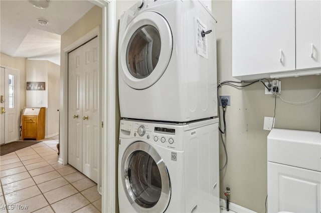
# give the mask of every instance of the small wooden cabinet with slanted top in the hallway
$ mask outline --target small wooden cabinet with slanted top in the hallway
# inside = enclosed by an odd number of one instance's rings
[[[45,138],[45,107],[25,107],[22,115],[22,140]]]

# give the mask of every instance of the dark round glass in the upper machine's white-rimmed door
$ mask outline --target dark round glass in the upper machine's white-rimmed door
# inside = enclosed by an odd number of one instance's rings
[[[127,68],[136,78],[147,77],[155,68],[161,53],[161,35],[152,25],[143,25],[131,36],[127,51]]]

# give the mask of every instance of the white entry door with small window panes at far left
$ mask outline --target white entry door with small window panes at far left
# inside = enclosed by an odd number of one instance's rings
[[[1,144],[19,139],[19,72],[1,67],[0,77],[0,138]]]

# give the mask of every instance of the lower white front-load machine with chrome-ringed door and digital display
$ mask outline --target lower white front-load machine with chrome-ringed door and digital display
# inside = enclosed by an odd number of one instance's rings
[[[175,124],[122,119],[122,212],[220,212],[218,118]]]

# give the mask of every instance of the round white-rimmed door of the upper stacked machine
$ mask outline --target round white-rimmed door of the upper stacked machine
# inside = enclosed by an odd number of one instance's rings
[[[134,89],[153,85],[166,70],[172,55],[172,31],[156,12],[142,12],[128,25],[119,49],[124,81]]]

